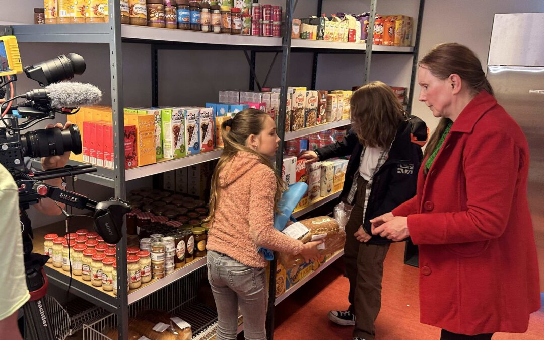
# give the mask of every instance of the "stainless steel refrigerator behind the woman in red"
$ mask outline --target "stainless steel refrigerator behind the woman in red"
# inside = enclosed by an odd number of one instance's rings
[[[487,65],[497,101],[529,143],[529,206],[544,292],[544,13],[496,14]]]

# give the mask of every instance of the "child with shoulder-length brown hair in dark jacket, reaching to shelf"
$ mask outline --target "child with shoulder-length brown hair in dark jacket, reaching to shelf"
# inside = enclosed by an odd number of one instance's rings
[[[340,198],[353,205],[345,226],[345,274],[350,289],[347,311],[331,311],[339,325],[355,325],[354,340],[373,340],[374,321],[381,307],[384,260],[391,241],[372,236],[370,219],[390,212],[416,193],[422,160],[425,123],[408,115],[394,92],[382,82],[371,82],[350,100],[352,127],[342,141],[299,158],[317,162],[351,155]]]

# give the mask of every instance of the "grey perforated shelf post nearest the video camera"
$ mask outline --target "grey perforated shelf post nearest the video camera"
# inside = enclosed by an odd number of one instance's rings
[[[109,2],[109,60],[110,82],[112,85],[112,121],[113,121],[113,151],[114,151],[114,179],[115,197],[126,199],[125,181],[125,122],[123,113],[123,69],[121,53],[121,8],[115,0]],[[124,219],[123,219],[124,220]],[[128,290],[127,285],[127,226],[122,226],[123,238],[117,244],[117,285],[118,309],[117,329],[119,339],[128,339]]]

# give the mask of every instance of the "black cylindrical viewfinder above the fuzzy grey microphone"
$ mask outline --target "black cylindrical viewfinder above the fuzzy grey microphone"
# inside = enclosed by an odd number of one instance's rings
[[[26,67],[24,72],[27,73],[27,77],[45,86],[72,79],[74,75],[81,75],[85,71],[85,67],[85,61],[81,55],[69,53]]]

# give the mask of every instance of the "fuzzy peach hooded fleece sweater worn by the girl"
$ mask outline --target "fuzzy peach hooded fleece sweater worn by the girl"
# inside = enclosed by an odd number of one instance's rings
[[[259,247],[298,255],[302,242],[274,228],[274,172],[249,152],[238,152],[219,174],[219,201],[207,249],[254,268],[267,266]]]

